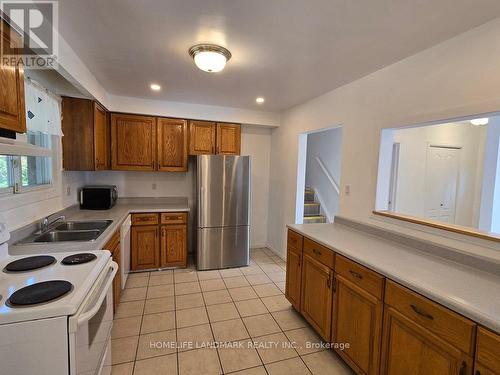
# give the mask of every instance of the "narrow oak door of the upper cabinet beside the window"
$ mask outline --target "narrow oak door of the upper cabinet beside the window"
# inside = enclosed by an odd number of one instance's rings
[[[111,167],[109,116],[104,108],[94,103],[94,159],[95,170]]]

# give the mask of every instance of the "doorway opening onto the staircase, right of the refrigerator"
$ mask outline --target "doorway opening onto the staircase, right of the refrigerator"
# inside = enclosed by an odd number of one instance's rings
[[[342,127],[299,135],[297,224],[331,223],[339,209]]]

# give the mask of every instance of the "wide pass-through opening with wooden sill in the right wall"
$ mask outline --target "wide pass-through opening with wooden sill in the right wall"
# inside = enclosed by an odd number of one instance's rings
[[[500,239],[500,115],[384,129],[375,214]]]

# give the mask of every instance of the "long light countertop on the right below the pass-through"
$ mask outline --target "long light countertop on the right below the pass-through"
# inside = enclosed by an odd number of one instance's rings
[[[500,277],[346,225],[288,227],[500,333]]]

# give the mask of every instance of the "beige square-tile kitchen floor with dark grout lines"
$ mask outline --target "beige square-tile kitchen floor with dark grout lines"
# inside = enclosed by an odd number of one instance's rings
[[[344,375],[352,372],[284,296],[285,262],[131,274],[115,315],[113,375]],[[229,345],[213,345],[229,343]]]

